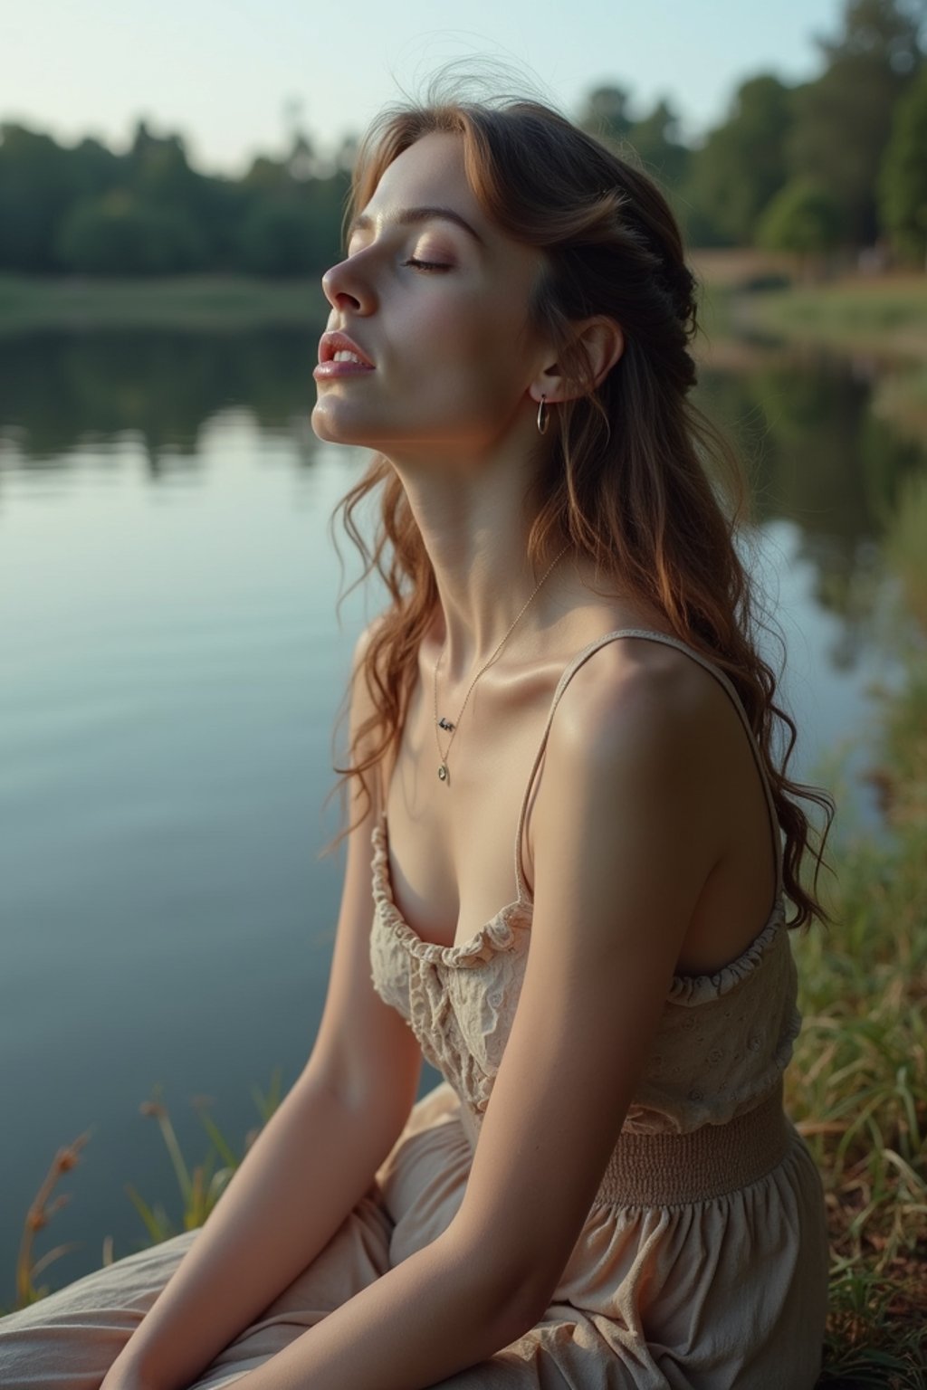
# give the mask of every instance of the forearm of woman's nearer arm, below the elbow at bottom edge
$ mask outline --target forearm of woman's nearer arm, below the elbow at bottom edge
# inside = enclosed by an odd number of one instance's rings
[[[541,1316],[452,1230],[302,1333],[236,1390],[425,1390],[485,1361]]]

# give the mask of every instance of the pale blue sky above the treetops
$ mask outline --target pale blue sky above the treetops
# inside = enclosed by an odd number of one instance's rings
[[[820,71],[842,0],[0,0],[0,120],[124,149],[136,117],[207,171],[286,145],[285,104],[322,150],[443,60],[516,64],[567,113],[593,85],[667,96],[698,138],[745,76]]]

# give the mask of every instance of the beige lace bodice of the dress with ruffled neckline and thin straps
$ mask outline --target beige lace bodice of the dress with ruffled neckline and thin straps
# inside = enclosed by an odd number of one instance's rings
[[[521,833],[553,710],[575,670],[620,635],[678,646],[712,671],[746,727],[763,777],[776,838],[776,906],[755,941],[716,974],[674,976],[650,1055],[627,1112],[628,1133],[685,1133],[721,1125],[756,1106],[781,1079],[801,1016],[796,972],[784,923],[781,842],[753,733],[731,682],[700,653],[666,634],[607,634],[570,663],[555,692],[521,806],[516,841],[518,897],[470,941],[424,941],[396,906],[386,816],[372,831],[371,972],[377,992],[407,1020],[425,1058],[457,1091],[478,1125],[489,1102],[514,1019],[531,941],[532,902],[521,873]]]

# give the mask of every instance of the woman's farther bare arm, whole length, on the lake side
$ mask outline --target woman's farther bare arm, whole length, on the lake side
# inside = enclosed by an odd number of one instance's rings
[[[363,680],[356,685],[352,728],[366,714]],[[370,837],[377,809],[374,801],[349,837],[313,1054],[101,1390],[185,1390],[315,1258],[370,1188],[406,1122],[421,1052],[370,980]]]

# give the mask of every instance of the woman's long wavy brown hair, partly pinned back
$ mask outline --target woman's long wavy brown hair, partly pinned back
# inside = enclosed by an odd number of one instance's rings
[[[734,449],[688,396],[696,381],[689,353],[698,331],[696,282],[666,197],[641,168],[545,101],[442,97],[432,83],[424,101],[391,104],[368,128],[345,227],[367,204],[384,170],[431,132],[463,138],[467,179],[489,221],[541,249],[530,322],[550,336],[580,392],[549,411],[525,498],[534,518],[530,563],[539,573],[568,545],[593,562],[603,594],[620,591],[656,606],[680,639],[727,673],[756,735],[785,838],[784,887],[795,906],[788,924],[830,920],[816,891],[834,803],[827,792],[785,774],[795,723],[776,702],[776,674],[757,651],[756,630],[769,623],[760,620],[737,552],[746,488]],[[596,314],[621,325],[624,352],[593,389],[574,324]],[[354,512],[375,492],[379,518],[368,542]],[[438,603],[421,532],[384,455],[374,453],[332,521],[339,513],[364,563],[356,584],[377,570],[391,602],[371,624],[342,706],[339,724],[353,682],[363,678],[374,712],[354,730],[347,764],[335,766],[339,781],[332,791],[342,792],[343,828],[325,852],[353,828],[345,810],[349,784],[357,780],[363,788],[363,819],[371,803],[367,774],[397,749],[418,646]],[[778,733],[787,731],[778,760],[777,721]],[[820,831],[801,799],[824,812]],[[816,860],[813,885],[802,876],[806,853]]]

